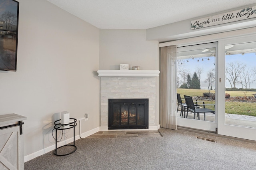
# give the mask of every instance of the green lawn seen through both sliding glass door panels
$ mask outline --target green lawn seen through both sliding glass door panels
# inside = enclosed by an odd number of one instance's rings
[[[199,90],[199,89],[177,89],[177,93],[180,93],[180,96],[202,96],[203,93],[209,92],[208,90]],[[211,91],[214,93],[215,91]],[[245,91],[225,91],[225,93],[230,94],[230,97],[242,96],[244,97]],[[253,96],[255,91],[247,91],[246,96]],[[205,101],[206,104],[213,104],[215,101]],[[249,115],[256,117],[256,103],[249,102],[226,102],[225,103],[225,113],[236,114],[236,115]]]

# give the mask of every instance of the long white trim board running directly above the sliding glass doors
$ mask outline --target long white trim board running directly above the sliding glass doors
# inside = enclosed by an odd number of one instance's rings
[[[219,41],[224,38],[231,38],[235,36],[242,36],[242,35],[250,35],[250,34],[255,34],[256,32],[256,27],[253,28],[246,28],[246,29],[241,29],[241,30],[235,30],[235,31],[229,31],[229,32],[222,32],[218,34],[211,34],[207,36],[200,36],[200,37],[194,37],[194,38],[187,38],[184,40],[176,40],[172,42],[165,42],[165,43],[159,43],[159,47],[166,47],[170,45],[186,45],[187,43],[207,43],[207,42],[214,42],[214,41]]]

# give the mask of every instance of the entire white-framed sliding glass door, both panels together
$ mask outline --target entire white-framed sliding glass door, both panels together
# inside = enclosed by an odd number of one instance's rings
[[[256,141],[256,34],[247,31],[168,43],[178,44],[168,93],[178,127]]]

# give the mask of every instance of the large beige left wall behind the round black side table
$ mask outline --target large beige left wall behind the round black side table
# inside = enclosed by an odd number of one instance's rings
[[[82,133],[99,127],[99,29],[45,0],[18,1],[17,71],[0,71],[0,115],[27,117],[26,156],[55,144],[54,113],[79,119],[87,112]]]

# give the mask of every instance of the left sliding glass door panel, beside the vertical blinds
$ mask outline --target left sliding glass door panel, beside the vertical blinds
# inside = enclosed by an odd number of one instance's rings
[[[178,47],[176,61],[178,126],[216,131],[217,51],[217,43]],[[188,106],[185,96],[192,98],[191,106]]]

